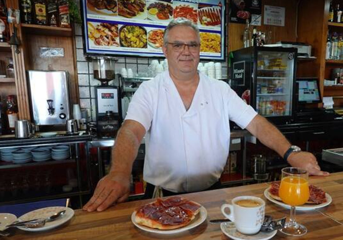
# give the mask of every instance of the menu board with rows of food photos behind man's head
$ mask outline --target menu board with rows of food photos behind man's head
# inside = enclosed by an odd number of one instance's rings
[[[163,57],[168,23],[200,29],[200,58],[225,60],[225,0],[81,0],[87,55]]]

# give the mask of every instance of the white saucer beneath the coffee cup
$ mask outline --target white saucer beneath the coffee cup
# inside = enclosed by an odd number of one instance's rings
[[[229,238],[235,239],[235,240],[242,240],[242,239],[249,239],[249,240],[267,240],[275,236],[277,230],[274,230],[272,232],[261,232],[259,231],[255,235],[245,235],[243,233],[240,233],[236,230],[235,223],[228,222],[228,223],[221,223],[220,229],[222,229],[222,232],[228,236]]]

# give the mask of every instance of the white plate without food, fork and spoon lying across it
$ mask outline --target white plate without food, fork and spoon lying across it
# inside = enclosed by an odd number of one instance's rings
[[[24,215],[18,218],[20,221],[25,221],[25,220],[35,219],[35,218],[47,218],[47,217],[50,217],[54,213],[58,213],[62,211],[63,209],[66,209],[65,214],[63,214],[61,217],[59,217],[55,221],[45,223],[43,227],[40,227],[40,228],[17,227],[17,228],[23,231],[29,231],[29,232],[39,232],[39,231],[45,231],[52,228],[56,228],[66,223],[70,218],[74,216],[73,209],[69,207],[44,207],[44,208],[39,208],[34,211],[25,213]]]

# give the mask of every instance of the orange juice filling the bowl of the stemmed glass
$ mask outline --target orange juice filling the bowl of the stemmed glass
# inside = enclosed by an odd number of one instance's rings
[[[298,176],[283,178],[280,184],[279,196],[284,203],[291,206],[303,205],[310,196],[308,181]]]

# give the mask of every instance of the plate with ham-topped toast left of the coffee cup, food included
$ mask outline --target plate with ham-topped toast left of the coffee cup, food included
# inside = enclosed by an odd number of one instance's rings
[[[138,207],[131,215],[132,223],[141,230],[174,234],[199,226],[206,220],[206,208],[184,197],[156,199]]]

